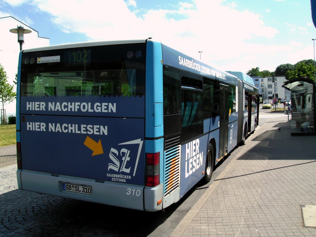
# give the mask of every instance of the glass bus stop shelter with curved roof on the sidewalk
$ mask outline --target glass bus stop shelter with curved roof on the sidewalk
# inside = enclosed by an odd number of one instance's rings
[[[291,136],[316,135],[314,128],[316,83],[301,77],[289,80],[282,87],[291,91]]]

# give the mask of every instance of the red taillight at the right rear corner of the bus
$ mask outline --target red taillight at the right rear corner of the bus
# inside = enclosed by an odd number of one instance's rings
[[[160,152],[146,153],[146,186],[160,184]]]

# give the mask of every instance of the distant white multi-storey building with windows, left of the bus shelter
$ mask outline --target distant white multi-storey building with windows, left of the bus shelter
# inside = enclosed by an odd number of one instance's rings
[[[291,92],[282,87],[287,81],[285,76],[274,76],[274,83],[272,82],[272,76],[252,76],[252,80],[263,100],[272,100],[274,98],[291,99]]]

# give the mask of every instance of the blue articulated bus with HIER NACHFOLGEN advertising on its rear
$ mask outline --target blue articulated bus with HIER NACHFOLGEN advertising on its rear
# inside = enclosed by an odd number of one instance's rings
[[[254,131],[250,80],[150,38],[23,50],[18,187],[162,210]]]

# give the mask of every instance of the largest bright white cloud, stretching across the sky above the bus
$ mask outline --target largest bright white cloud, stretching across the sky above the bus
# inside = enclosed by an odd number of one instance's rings
[[[183,1],[173,4],[173,10],[140,9],[135,0],[68,0],[63,1],[63,7],[60,3],[61,0],[34,0],[31,4],[45,12],[64,32],[84,33],[89,40],[153,37],[194,58],[199,58],[198,51],[203,51],[202,60],[211,65],[222,60],[226,67],[235,60],[242,68],[250,64],[252,68],[260,60],[262,64],[266,60],[270,62],[272,55],[279,53],[285,57],[293,50],[293,45],[269,43],[279,34],[275,23],[269,26],[259,12],[237,10],[236,3],[224,0]],[[133,9],[129,9],[131,6]],[[304,27],[296,29],[295,25],[286,25],[292,32],[307,32]]]

